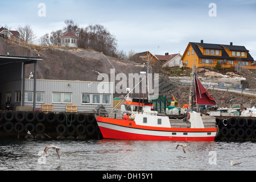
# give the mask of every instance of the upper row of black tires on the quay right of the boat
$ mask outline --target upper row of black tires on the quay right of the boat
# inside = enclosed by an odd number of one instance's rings
[[[216,118],[219,127],[256,129],[256,118]]]

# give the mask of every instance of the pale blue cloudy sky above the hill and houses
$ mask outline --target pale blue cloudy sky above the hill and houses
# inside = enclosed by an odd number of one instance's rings
[[[46,16],[38,16],[39,3]],[[216,16],[209,16],[210,3]],[[0,26],[31,24],[40,36],[62,29],[65,19],[80,27],[99,23],[117,39],[118,49],[183,54],[188,42],[245,46],[256,60],[256,0],[62,0],[1,1]]]

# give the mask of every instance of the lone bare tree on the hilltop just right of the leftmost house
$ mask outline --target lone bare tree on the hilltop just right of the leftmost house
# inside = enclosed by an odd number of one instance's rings
[[[36,35],[32,31],[30,24],[26,24],[24,27],[19,26],[16,30],[20,34],[20,39],[23,39],[27,43],[31,44],[36,39]]]

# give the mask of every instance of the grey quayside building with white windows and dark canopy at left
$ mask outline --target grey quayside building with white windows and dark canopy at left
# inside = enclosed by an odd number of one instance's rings
[[[113,93],[110,92],[113,83],[37,80],[38,60],[42,61],[42,57],[0,55],[1,110],[5,110],[7,101],[10,101],[12,110],[17,106],[31,106],[35,111],[40,110],[42,104],[52,104],[53,111],[65,111],[66,105],[76,105],[80,112],[93,111],[98,106],[113,107]],[[26,64],[34,64],[34,76],[30,79],[25,78]]]

